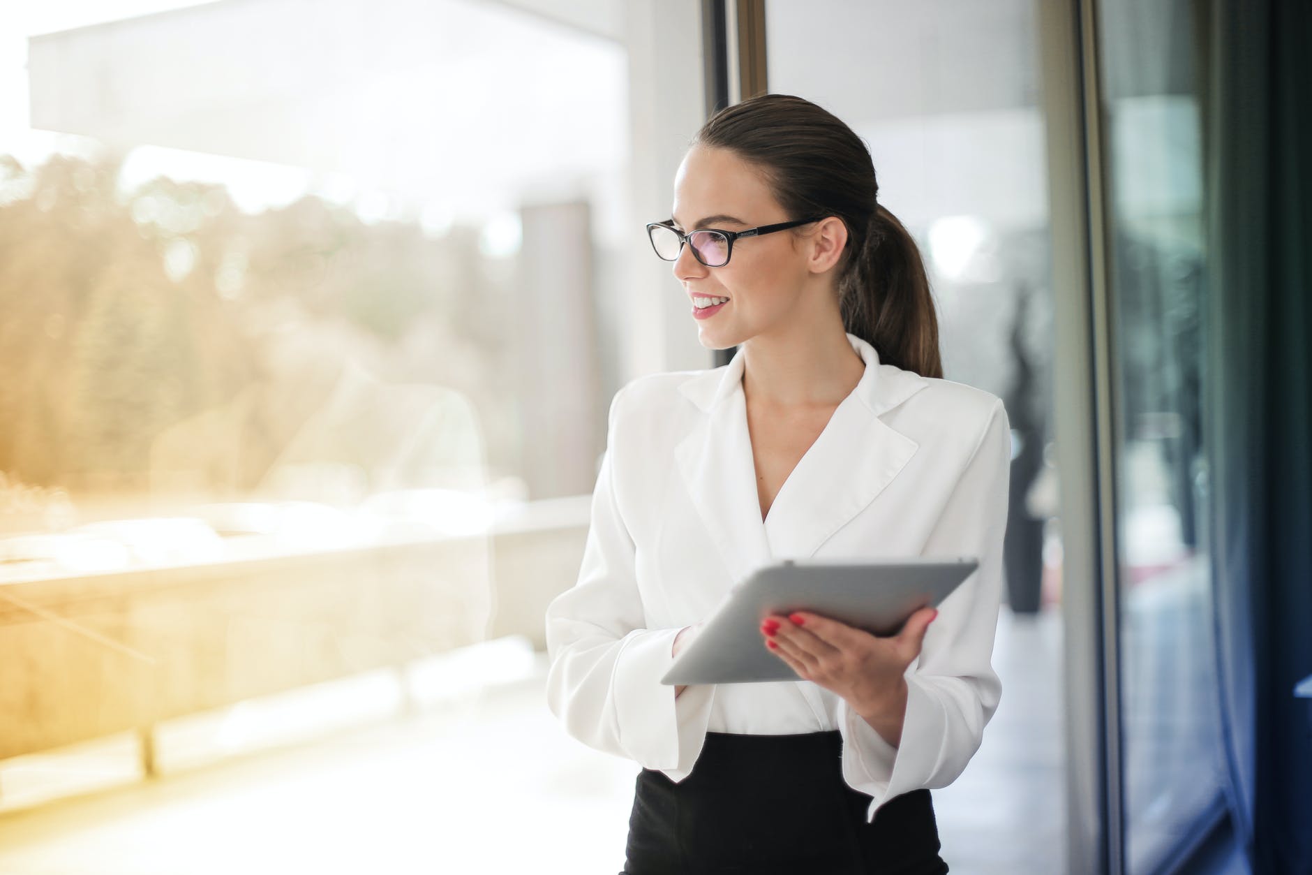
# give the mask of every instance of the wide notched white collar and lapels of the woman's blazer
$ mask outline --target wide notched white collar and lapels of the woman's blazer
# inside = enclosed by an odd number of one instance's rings
[[[929,382],[882,365],[874,346],[848,332],[866,363],[861,381],[798,461],[762,523],[743,393],[744,349],[727,365],[699,370],[680,392],[706,415],[674,449],[705,529],[737,583],[762,565],[804,558],[875,499],[918,444],[879,416]]]

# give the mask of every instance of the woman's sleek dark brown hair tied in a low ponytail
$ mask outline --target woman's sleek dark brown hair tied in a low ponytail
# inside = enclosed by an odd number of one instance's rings
[[[758,95],[719,110],[690,146],[726,148],[760,168],[790,218],[836,215],[848,227],[838,268],[846,331],[882,363],[942,377],[938,318],[920,248],[876,202],[870,150],[837,116],[791,95]]]

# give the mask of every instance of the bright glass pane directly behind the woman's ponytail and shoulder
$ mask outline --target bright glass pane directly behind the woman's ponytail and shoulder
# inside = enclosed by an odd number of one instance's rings
[[[954,871],[1065,868],[1052,284],[1035,33],[1029,0],[766,4],[770,91],[820,104],[870,146],[879,201],[914,235],[930,272],[945,376],[1000,395],[1013,428],[1008,593],[993,656],[1002,699],[966,771],[933,792]]]

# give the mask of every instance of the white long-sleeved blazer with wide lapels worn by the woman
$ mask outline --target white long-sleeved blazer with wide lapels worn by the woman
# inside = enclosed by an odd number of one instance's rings
[[[547,704],[584,744],[682,780],[706,732],[838,729],[842,775],[883,803],[945,787],[1001,696],[991,657],[1002,593],[1012,443],[1001,399],[866,363],[857,388],[761,520],[743,349],[719,368],[639,377],[610,403],[579,581],[547,607]],[[674,636],[783,558],[972,556],[907,669],[901,744],[811,681],[674,687]]]

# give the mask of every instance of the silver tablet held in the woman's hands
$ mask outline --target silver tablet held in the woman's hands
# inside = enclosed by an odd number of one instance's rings
[[[823,614],[874,635],[897,635],[907,619],[938,606],[979,566],[972,558],[888,562],[785,560],[757,569],[684,648],[661,683],[798,681],[761,636],[769,614]]]

